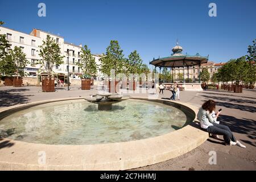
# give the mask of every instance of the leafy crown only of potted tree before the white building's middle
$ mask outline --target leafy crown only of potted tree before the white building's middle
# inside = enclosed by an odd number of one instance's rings
[[[40,64],[39,72],[47,72],[48,77],[50,77],[53,73],[53,66],[64,63],[64,56],[60,55],[59,44],[49,35],[47,35],[46,40],[43,40],[43,44],[39,46],[39,48],[39,56],[41,59],[36,63]]]

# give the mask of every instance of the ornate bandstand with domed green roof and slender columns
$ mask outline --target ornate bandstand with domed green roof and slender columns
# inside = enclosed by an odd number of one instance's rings
[[[208,56],[201,56],[199,53],[196,53],[196,55],[188,55],[187,53],[184,55],[182,53],[183,48],[179,46],[178,43],[176,43],[176,46],[172,48],[172,54],[169,57],[159,57],[158,59],[153,59],[150,61],[150,64],[154,65],[155,68],[159,67],[160,69],[160,74],[161,74],[161,68],[166,67],[166,68],[171,68],[172,69],[172,82],[174,82],[174,68],[177,67],[183,67],[183,86],[184,88],[193,88],[194,85],[196,84],[186,84],[185,83],[185,67],[188,69],[188,78],[189,78],[189,67],[192,67],[194,65],[199,65],[199,68],[201,68],[201,64],[207,63],[208,62]],[[201,69],[200,69],[201,70]],[[200,72],[199,72],[199,84],[200,84]],[[187,86],[185,86],[187,85]],[[197,86],[196,86],[197,87]],[[192,89],[194,90],[194,89]]]

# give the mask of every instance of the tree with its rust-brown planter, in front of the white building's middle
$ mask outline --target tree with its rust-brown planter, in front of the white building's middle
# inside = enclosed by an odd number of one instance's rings
[[[39,46],[39,48],[39,56],[41,59],[36,64],[40,64],[40,73],[47,73],[46,77],[42,77],[42,90],[43,92],[55,92],[52,68],[54,65],[63,64],[64,56],[60,55],[59,44],[49,35],[47,35],[46,40],[43,40],[43,44]]]

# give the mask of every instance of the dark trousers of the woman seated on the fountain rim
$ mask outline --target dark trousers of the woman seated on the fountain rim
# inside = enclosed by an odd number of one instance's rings
[[[237,139],[234,137],[232,131],[229,129],[228,126],[213,123],[213,126],[209,126],[205,130],[208,133],[211,133],[211,134],[214,134],[214,135],[223,135],[225,143],[230,144],[230,140],[232,140],[233,142],[237,141]]]

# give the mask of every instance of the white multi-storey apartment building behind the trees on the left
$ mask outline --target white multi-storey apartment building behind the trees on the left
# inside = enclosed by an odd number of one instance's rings
[[[24,72],[30,76],[40,76],[40,73],[38,73],[40,65],[35,63],[36,60],[40,59],[39,46],[42,45],[43,40],[46,40],[47,35],[51,36],[56,41],[56,43],[59,44],[61,49],[61,56],[65,56],[63,59],[64,64],[55,65],[55,67],[53,67],[53,72],[55,72],[56,75],[63,75],[67,78],[69,65],[69,77],[78,78],[79,75],[82,74],[81,68],[76,65],[76,63],[80,61],[82,45],[76,46],[72,43],[64,42],[63,37],[36,28],[34,28],[30,34],[26,34],[12,30],[10,28],[0,27],[0,34],[6,35],[6,39],[11,44],[11,49],[17,46],[22,48],[23,52],[26,53],[26,58],[29,61],[29,64],[26,68],[24,68]],[[67,52],[68,49],[69,55]],[[99,80],[102,76],[102,73],[100,72],[99,60],[101,56],[96,54],[93,56],[95,57],[96,64],[99,67],[96,76],[96,80]]]

